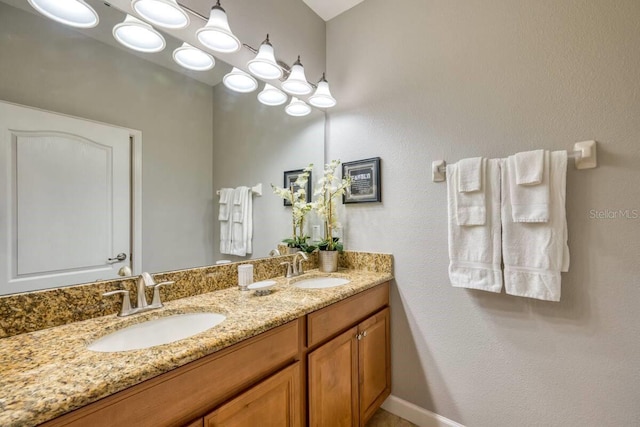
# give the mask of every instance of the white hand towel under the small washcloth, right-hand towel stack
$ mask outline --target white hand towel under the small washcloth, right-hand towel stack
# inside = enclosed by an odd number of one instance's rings
[[[509,181],[511,218],[514,222],[549,221],[549,152],[544,152],[542,182],[538,185],[518,185],[516,159],[509,156],[503,164],[503,180]],[[504,196],[503,196],[504,198]]]

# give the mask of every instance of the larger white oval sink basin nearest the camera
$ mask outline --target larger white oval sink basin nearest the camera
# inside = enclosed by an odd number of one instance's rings
[[[211,329],[226,318],[218,313],[187,313],[161,317],[105,335],[89,344],[87,348],[111,353],[169,344]]]

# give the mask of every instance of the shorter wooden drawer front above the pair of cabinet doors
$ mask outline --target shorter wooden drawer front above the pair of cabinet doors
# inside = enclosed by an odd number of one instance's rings
[[[335,336],[389,305],[389,282],[337,302],[307,316],[307,347]]]

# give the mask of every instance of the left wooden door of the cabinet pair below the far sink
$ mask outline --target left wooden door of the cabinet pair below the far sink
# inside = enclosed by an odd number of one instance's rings
[[[308,356],[311,427],[358,426],[356,333],[353,327]]]

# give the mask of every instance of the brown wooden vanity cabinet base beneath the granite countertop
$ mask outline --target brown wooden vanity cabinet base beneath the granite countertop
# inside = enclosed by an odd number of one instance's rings
[[[391,391],[388,302],[384,283],[44,425],[364,425]]]

